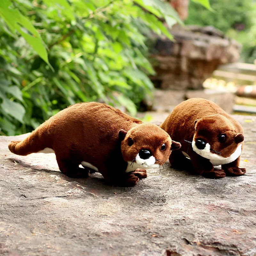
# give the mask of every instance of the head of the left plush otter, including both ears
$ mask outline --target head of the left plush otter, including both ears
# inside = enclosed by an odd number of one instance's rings
[[[163,165],[171,150],[180,148],[180,143],[172,141],[169,134],[155,124],[139,124],[128,132],[120,130],[118,137],[124,161],[132,168],[148,169]]]

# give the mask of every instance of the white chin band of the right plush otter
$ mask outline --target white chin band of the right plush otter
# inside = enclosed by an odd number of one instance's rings
[[[212,165],[214,166],[231,163],[235,161],[242,153],[242,144],[238,145],[238,147],[236,148],[236,151],[228,157],[223,157],[223,156],[219,156],[217,154],[212,153],[210,151],[211,145],[209,143],[206,143],[204,149],[199,149],[196,147],[196,141],[193,140],[192,148],[198,155],[209,159]]]

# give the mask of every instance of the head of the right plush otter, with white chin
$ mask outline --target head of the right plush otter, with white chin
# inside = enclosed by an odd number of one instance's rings
[[[236,132],[234,125],[220,114],[205,116],[195,121],[193,150],[210,160],[221,160],[232,154],[241,154],[243,133]]]

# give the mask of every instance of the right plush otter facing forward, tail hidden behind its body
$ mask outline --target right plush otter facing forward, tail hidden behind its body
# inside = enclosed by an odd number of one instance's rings
[[[174,168],[192,166],[209,178],[243,175],[239,168],[244,144],[243,128],[210,100],[193,98],[176,106],[160,126],[181,143],[169,160]],[[190,158],[190,160],[189,160]],[[221,169],[213,166],[221,165]]]

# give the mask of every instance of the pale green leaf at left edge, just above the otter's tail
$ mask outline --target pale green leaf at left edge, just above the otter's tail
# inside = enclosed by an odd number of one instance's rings
[[[5,113],[13,116],[15,119],[19,120],[20,123],[23,123],[25,108],[20,103],[8,99],[3,99],[1,108],[4,110]]]

